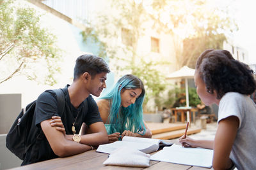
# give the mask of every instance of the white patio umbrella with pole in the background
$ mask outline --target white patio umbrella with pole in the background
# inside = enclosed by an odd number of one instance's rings
[[[175,78],[185,78],[185,86],[186,86],[186,106],[189,107],[189,99],[188,99],[188,78],[193,78],[195,74],[195,69],[191,69],[188,66],[184,66],[178,71],[175,71],[168,76],[166,79],[175,79]],[[189,121],[189,113],[187,113],[187,120]],[[190,124],[190,122],[189,122]]]

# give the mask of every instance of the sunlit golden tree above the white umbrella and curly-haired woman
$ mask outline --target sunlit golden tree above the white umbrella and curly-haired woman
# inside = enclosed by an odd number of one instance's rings
[[[195,67],[196,58],[207,48],[223,48],[223,41],[238,29],[228,5],[232,1],[223,6],[207,0],[153,1],[150,16],[156,28],[173,34],[177,69]]]

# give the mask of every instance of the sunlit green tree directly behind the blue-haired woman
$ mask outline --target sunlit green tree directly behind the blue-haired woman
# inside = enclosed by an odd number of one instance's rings
[[[145,33],[143,24],[150,18],[143,4],[135,1],[111,1],[111,6],[115,15],[103,13],[97,18],[97,25],[89,24],[86,30],[82,32],[84,41],[91,39],[97,45],[100,45],[99,56],[109,57],[111,70],[117,74],[123,74],[127,71],[141,78],[145,84],[146,97],[144,104],[148,99],[158,97],[159,93],[165,89],[164,76],[157,70],[157,66],[163,63],[146,61],[145,56],[137,53],[138,39]],[[118,39],[116,32],[122,31],[123,45],[116,43],[111,45],[111,39]],[[103,54],[103,55],[100,55]],[[121,63],[121,64],[120,64]]]

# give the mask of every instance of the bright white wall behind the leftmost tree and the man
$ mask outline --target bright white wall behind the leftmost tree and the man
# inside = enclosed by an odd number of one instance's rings
[[[31,101],[35,100],[44,90],[63,88],[67,83],[72,83],[73,69],[75,66],[76,58],[85,53],[81,52],[77,44],[76,37],[72,25],[64,20],[61,20],[51,13],[46,13],[44,10],[34,6],[27,1],[22,1],[24,4],[35,8],[38,14],[42,16],[42,26],[47,27],[52,34],[56,35],[57,45],[62,50],[62,60],[59,61],[61,66],[61,73],[56,76],[58,83],[54,86],[40,85],[35,81],[27,80],[25,76],[14,76],[8,81],[0,84],[0,94],[22,94],[22,108]],[[40,67],[40,63],[38,67]],[[37,74],[44,75],[44,69]]]

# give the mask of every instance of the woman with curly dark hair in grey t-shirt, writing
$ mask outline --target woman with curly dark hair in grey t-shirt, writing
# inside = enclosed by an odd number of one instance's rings
[[[196,92],[206,104],[216,103],[218,129],[214,141],[180,137],[185,147],[214,150],[212,167],[256,169],[256,89],[253,71],[226,50],[205,50],[196,62]]]

